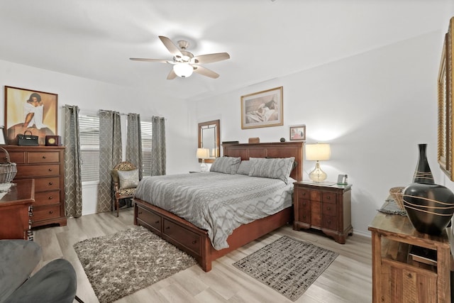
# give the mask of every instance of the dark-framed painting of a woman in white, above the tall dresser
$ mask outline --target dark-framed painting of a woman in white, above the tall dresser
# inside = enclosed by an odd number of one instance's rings
[[[45,136],[57,135],[57,103],[57,94],[5,86],[6,142],[16,145],[18,134],[31,131],[45,145]]]

